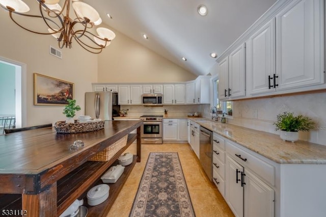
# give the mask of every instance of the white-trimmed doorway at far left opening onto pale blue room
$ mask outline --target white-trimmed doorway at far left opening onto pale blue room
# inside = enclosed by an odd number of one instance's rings
[[[26,64],[0,57],[0,69],[0,80],[6,84],[0,90],[0,116],[14,116],[15,127],[23,127],[26,125]]]

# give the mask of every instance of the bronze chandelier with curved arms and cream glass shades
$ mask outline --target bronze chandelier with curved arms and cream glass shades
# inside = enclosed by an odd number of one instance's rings
[[[110,45],[116,35],[109,29],[97,28],[94,34],[94,27],[102,22],[98,12],[90,5],[71,0],[74,17],[70,17],[70,0],[64,0],[61,7],[60,0],[36,0],[39,4],[39,15],[30,15],[28,5],[22,0],[0,0],[0,5],[9,11],[10,18],[24,30],[42,35],[52,35],[59,42],[59,47],[72,47],[72,39],[80,46],[92,53],[100,53],[103,48]],[[47,32],[31,30],[19,24],[15,15],[42,19],[47,28]],[[92,33],[92,32],[93,33]]]

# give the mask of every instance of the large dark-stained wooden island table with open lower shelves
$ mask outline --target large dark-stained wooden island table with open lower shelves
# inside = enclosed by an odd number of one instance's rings
[[[50,127],[0,136],[1,214],[59,216],[76,199],[85,199],[88,189],[101,183],[101,175],[137,140],[137,155],[120,179],[110,184],[110,197],[102,204],[88,206],[88,216],[106,216],[133,166],[141,161],[142,125],[142,121],[105,121],[104,129],[93,132],[58,134]],[[131,133],[134,129],[137,133]],[[111,160],[88,161],[127,134],[127,146]],[[71,151],[76,140],[85,146]]]

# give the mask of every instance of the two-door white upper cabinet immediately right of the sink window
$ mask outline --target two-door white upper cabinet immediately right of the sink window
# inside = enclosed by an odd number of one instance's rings
[[[246,95],[245,44],[234,49],[219,63],[219,99]]]

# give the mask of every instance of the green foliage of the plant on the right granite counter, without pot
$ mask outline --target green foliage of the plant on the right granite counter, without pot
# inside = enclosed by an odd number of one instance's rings
[[[274,123],[275,130],[284,130],[290,132],[309,131],[315,128],[315,123],[303,115],[294,116],[293,113],[284,112],[277,116],[277,122]]]

